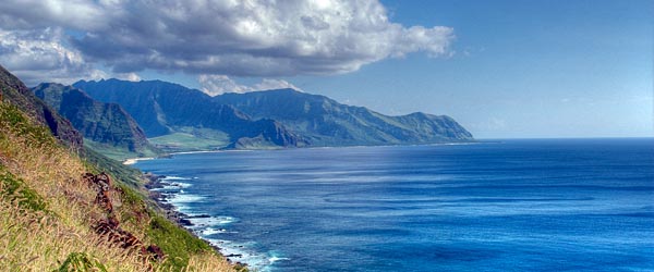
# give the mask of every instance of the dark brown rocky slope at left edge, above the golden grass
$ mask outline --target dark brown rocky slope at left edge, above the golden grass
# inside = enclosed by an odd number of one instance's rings
[[[82,135],[73,128],[73,125],[38,99],[23,82],[1,65],[0,100],[16,106],[38,123],[46,125],[52,132],[52,135],[66,146],[77,151],[81,150],[83,146]]]

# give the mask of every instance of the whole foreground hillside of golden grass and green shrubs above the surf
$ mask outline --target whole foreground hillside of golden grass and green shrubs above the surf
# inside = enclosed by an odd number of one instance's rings
[[[1,99],[0,99],[1,100]],[[83,174],[108,171],[112,209]],[[116,173],[116,174],[114,174]],[[150,208],[138,173],[86,152],[81,159],[50,131],[0,101],[0,268],[5,271],[232,271],[207,245]],[[105,206],[104,206],[105,205]],[[141,247],[98,232],[114,219]],[[118,230],[118,228],[117,228]],[[160,248],[164,258],[140,250]]]

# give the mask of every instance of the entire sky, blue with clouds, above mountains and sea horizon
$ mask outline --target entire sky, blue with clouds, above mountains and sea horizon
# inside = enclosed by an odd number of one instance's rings
[[[295,88],[476,138],[654,137],[651,0],[3,0],[28,86]]]

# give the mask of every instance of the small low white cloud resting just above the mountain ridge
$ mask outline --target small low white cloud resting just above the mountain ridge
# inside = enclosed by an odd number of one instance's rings
[[[199,82],[201,90],[209,96],[218,96],[226,92],[238,92],[244,94],[249,91],[268,90],[268,89],[284,89],[291,88],[298,91],[302,89],[295,87],[293,84],[282,79],[270,79],[264,78],[261,83],[252,86],[238,84],[235,81],[227,75],[206,75],[202,74],[197,77]]]

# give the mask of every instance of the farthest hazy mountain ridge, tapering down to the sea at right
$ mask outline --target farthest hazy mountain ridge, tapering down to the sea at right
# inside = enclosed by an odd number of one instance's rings
[[[399,145],[468,141],[472,135],[449,116],[412,113],[387,116],[293,89],[225,94],[214,100],[254,119],[268,118],[315,146]]]

